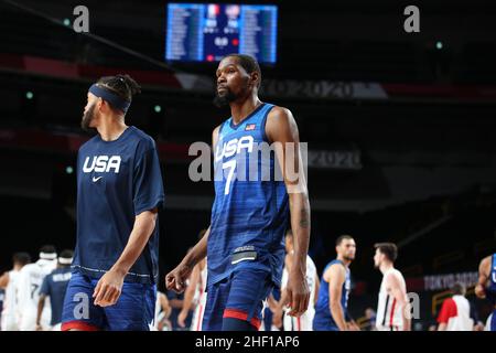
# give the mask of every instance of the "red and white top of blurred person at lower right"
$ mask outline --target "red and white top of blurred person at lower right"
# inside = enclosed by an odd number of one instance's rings
[[[444,300],[438,317],[438,323],[445,323],[446,331],[473,331],[471,304],[463,296],[453,296]]]

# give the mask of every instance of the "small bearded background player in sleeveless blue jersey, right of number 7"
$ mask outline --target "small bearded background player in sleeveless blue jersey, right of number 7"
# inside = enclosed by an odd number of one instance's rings
[[[349,265],[355,259],[356,244],[349,235],[336,240],[337,258],[327,264],[321,279],[319,299],[313,319],[314,331],[348,331],[352,325],[348,317],[351,291]],[[349,320],[348,320],[349,321]]]

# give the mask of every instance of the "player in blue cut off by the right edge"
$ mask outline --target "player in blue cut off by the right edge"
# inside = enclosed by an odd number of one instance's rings
[[[490,331],[496,331],[496,254],[485,257],[478,265],[475,295],[481,299],[488,299],[493,304],[493,317],[488,327]]]

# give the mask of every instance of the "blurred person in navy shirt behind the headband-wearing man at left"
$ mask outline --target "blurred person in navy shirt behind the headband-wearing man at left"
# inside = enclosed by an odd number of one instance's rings
[[[62,309],[64,307],[65,292],[71,279],[71,264],[73,263],[73,252],[63,250],[58,256],[57,268],[54,269],[43,280],[40,289],[40,299],[37,302],[36,331],[46,331],[42,325],[42,313],[45,307],[46,297],[50,298],[52,309],[52,331],[61,331]]]

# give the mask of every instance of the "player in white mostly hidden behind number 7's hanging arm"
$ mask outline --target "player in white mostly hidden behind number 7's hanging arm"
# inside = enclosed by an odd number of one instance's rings
[[[310,290],[310,301],[309,301],[309,308],[299,318],[289,315],[289,308],[288,304],[288,296],[285,291],[285,286],[288,284],[288,268],[291,268],[292,266],[292,259],[293,259],[293,253],[294,253],[294,245],[293,245],[293,233],[291,229],[289,229],[285,233],[285,252],[287,256],[284,259],[284,269],[282,271],[282,279],[281,279],[281,299],[279,300],[277,309],[274,310],[276,321],[278,322],[282,311],[284,311],[284,318],[283,318],[283,329],[284,331],[313,331],[312,323],[313,323],[313,317],[315,315],[315,302],[317,299],[319,293],[319,274],[316,271],[315,264],[313,263],[312,258],[306,255],[306,282],[309,285]],[[272,299],[270,299],[272,300]],[[269,307],[272,307],[270,304]]]

